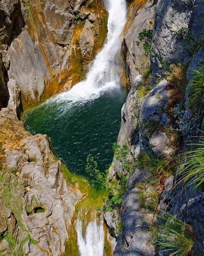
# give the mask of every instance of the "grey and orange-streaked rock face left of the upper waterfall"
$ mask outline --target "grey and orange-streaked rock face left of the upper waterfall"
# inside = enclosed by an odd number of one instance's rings
[[[106,38],[102,0],[7,0],[0,7],[2,106],[9,79],[16,80],[23,106],[68,90],[83,79]]]

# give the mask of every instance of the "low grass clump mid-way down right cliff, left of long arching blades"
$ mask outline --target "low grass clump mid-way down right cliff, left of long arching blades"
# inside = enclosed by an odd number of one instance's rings
[[[164,160],[151,154],[142,152],[138,155],[137,164],[140,168],[146,168],[152,175],[167,178],[170,175],[170,167]]]

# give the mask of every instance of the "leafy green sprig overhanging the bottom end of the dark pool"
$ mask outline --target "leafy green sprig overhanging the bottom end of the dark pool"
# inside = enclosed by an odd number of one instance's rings
[[[101,187],[105,187],[107,184],[107,173],[102,173],[98,169],[98,163],[94,160],[94,157],[89,154],[87,156],[86,173],[91,177],[91,183],[99,183]]]

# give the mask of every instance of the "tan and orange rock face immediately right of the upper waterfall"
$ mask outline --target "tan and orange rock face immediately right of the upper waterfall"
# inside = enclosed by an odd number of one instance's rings
[[[139,32],[151,30],[154,25],[155,5],[148,1],[133,1],[128,7],[122,52],[128,84],[131,86],[139,74],[148,67],[149,58],[145,56],[142,43],[137,45]]]

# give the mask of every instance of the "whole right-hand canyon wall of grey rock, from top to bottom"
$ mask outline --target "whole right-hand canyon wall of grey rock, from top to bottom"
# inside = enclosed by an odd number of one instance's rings
[[[134,2],[128,1],[129,15]],[[193,147],[188,142],[198,141],[204,131],[202,93],[197,99],[200,103],[189,105],[195,70],[202,73],[204,66],[204,3],[158,0],[138,9],[131,22],[128,17],[129,29],[122,45],[131,89],[121,111],[118,149],[109,169],[109,182],[119,180],[120,184],[121,177],[129,178],[121,205],[116,204],[113,211],[105,210],[105,221],[115,239],[114,256],[168,256],[168,251],[158,252],[149,232],[162,211],[167,212],[191,225],[192,254],[199,256],[203,253],[203,190],[196,184],[176,185],[179,170],[174,170],[173,163],[178,154]],[[148,54],[138,41],[144,29],[154,29]],[[148,34],[143,35],[147,40]],[[177,79],[170,77],[175,67],[180,67]],[[175,109],[179,109],[178,115]],[[154,161],[160,163],[157,175]],[[162,164],[168,165],[167,173],[159,171]]]

